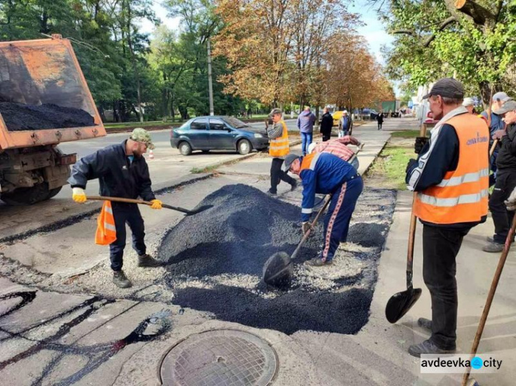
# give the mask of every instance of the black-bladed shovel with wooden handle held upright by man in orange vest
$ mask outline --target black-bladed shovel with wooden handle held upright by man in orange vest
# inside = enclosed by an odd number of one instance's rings
[[[420,137],[427,134],[427,126],[421,125]],[[398,292],[391,296],[387,306],[385,306],[385,317],[391,323],[396,323],[403,315],[409,312],[412,306],[421,296],[421,288],[413,288],[412,286],[412,265],[414,258],[414,238],[416,237],[416,222],[418,218],[414,216],[414,203],[416,203],[416,195],[414,192],[412,198],[412,212],[410,216],[409,230],[409,248],[407,249],[407,291]]]

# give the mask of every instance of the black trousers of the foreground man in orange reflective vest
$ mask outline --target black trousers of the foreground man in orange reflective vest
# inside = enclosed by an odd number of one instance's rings
[[[468,229],[423,225],[423,279],[432,302],[430,340],[442,350],[455,350],[457,339],[457,266],[455,258]]]

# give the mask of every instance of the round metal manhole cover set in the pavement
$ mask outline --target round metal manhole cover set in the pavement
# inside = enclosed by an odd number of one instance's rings
[[[278,358],[263,339],[239,330],[211,330],[175,345],[163,359],[167,386],[266,386]]]

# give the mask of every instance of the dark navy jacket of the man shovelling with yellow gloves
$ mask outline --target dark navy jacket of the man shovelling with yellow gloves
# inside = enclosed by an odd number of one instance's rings
[[[100,182],[100,195],[109,197],[155,199],[151,190],[149,166],[144,157],[134,157],[133,162],[125,154],[123,141],[107,146],[81,158],[72,168],[68,179],[72,188],[85,188],[90,179]]]

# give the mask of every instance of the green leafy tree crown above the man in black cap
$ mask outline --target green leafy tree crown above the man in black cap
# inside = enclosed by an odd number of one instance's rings
[[[380,10],[395,34],[391,76],[412,86],[456,76],[488,102],[510,84],[516,54],[515,1],[391,0]]]

